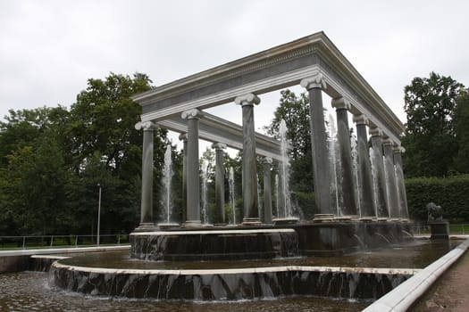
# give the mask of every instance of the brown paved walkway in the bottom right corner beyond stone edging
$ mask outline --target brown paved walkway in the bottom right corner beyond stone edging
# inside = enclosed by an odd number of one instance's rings
[[[409,311],[469,311],[469,250],[440,276]]]

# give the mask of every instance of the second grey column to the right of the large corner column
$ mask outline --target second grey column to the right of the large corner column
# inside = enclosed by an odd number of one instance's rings
[[[368,119],[361,114],[354,116],[356,123],[356,152],[358,154],[357,174],[360,185],[358,187],[361,217],[376,217],[376,209],[373,201],[373,177],[370,164],[370,153],[368,152],[368,135],[366,126]]]

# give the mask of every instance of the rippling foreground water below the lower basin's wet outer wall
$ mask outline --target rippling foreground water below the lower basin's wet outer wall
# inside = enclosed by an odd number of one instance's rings
[[[155,311],[155,312],[300,312],[360,311],[366,300],[291,297],[281,299],[191,302],[96,297],[67,292],[48,285],[48,275],[21,272],[0,275],[1,311]]]

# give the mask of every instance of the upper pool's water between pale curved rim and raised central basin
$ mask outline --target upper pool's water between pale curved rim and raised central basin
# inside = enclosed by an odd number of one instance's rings
[[[417,240],[396,244],[381,250],[361,251],[341,257],[298,257],[238,261],[143,261],[130,259],[129,251],[82,254],[61,263],[80,267],[139,269],[220,269],[242,267],[393,267],[423,268],[454,248],[460,241]]]

